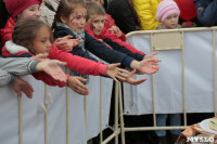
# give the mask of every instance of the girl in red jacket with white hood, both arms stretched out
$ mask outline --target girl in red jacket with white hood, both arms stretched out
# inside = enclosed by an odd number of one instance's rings
[[[3,47],[2,54],[9,56],[11,54],[33,56],[39,53],[49,53],[49,58],[60,60],[66,62],[66,67],[85,75],[104,75],[110,76],[117,81],[116,77],[123,79],[122,71],[116,66],[119,64],[103,65],[90,60],[86,60],[71,53],[66,53],[62,50],[58,50],[56,47],[51,45],[52,32],[50,27],[39,19],[25,18],[20,21],[13,31],[12,41],[8,41]],[[53,80],[44,73],[34,74],[34,77],[39,80],[43,80],[47,84],[64,87],[68,86],[79,94],[87,95],[89,93],[88,88],[79,81],[86,81],[80,77],[67,76],[67,83]],[[124,77],[125,78],[125,77]]]

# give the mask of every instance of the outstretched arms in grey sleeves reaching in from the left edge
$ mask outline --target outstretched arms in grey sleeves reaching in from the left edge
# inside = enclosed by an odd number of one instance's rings
[[[65,74],[59,66],[66,63],[44,60],[47,56],[47,54],[39,54],[33,60],[25,57],[3,58],[0,56],[0,87],[12,84],[18,96],[22,95],[21,91],[23,91],[27,97],[31,99],[34,92],[31,86],[18,76],[43,70],[54,79],[66,82]]]

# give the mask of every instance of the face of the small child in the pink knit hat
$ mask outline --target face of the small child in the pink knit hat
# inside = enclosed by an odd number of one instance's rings
[[[167,16],[163,24],[167,27],[167,28],[176,28],[179,22],[179,15],[177,13],[170,14],[169,16]]]

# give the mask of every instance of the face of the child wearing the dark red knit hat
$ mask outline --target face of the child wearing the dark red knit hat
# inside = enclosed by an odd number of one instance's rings
[[[23,18],[39,18],[40,17],[40,12],[39,12],[39,4],[34,4],[30,5],[28,8],[26,8],[25,10],[23,10],[20,14],[17,14],[17,18],[18,19],[23,19]]]

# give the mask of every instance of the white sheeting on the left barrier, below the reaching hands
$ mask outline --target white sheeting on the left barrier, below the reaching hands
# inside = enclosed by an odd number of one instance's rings
[[[23,144],[44,144],[44,84],[31,76],[25,79],[33,86],[33,99],[23,94]],[[87,144],[87,140],[100,132],[99,86],[100,77],[90,76],[90,95],[88,97],[88,128],[86,131],[84,96],[69,90],[69,143]],[[106,128],[110,114],[112,80],[103,78],[103,129]],[[49,144],[66,143],[66,96],[65,88],[49,87],[52,103],[48,109]],[[11,86],[0,88],[0,144],[18,144],[18,101]]]

